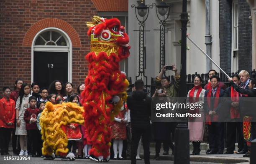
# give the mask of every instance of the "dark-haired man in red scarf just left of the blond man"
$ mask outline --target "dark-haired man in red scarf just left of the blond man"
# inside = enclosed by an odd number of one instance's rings
[[[236,84],[240,84],[240,77],[238,75],[233,75],[232,80]],[[236,92],[234,87],[228,87],[226,89],[227,97],[230,97],[228,100],[228,120],[227,122],[227,152],[225,154],[233,154],[235,150],[236,143],[236,130],[238,132],[238,152],[240,152],[244,147],[243,140],[243,129],[241,126],[241,122],[243,122],[243,118],[241,117],[239,110],[239,98],[241,94]]]

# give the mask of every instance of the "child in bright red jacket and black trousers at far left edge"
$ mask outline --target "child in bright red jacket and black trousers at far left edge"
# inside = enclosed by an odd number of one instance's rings
[[[0,149],[1,155],[9,155],[8,147],[15,119],[15,102],[10,99],[10,88],[3,87],[4,97],[0,99]]]

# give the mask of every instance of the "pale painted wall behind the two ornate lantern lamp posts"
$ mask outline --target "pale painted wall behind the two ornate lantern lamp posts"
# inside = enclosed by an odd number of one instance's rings
[[[146,5],[151,5],[159,0],[146,0]],[[135,8],[131,8],[132,4],[138,5],[139,1],[128,1],[128,20],[129,20],[129,37],[131,45],[131,56],[128,59],[128,77],[132,77],[132,82],[135,82],[135,77],[138,75],[138,20],[135,16]],[[166,21],[166,29],[172,30],[166,32],[166,65],[176,64],[180,70],[180,53],[181,47],[177,44],[181,40],[181,22],[180,14],[182,12],[182,0],[165,0],[171,5],[171,13]],[[187,11],[189,14],[189,22],[187,25],[187,33],[205,51],[205,0],[188,0]],[[156,17],[156,9],[150,9],[148,19],[146,20],[145,46],[146,46],[146,70],[145,75],[148,77],[148,84],[151,82],[151,77],[156,77],[159,74],[159,20]],[[211,33],[212,33],[212,58],[219,64],[219,7],[218,0],[211,1]],[[187,39],[187,45],[190,50],[187,51],[187,74],[205,73],[206,72],[206,57]],[[213,69],[217,67],[213,66]],[[216,69],[217,70],[217,69]],[[166,75],[173,75],[172,71]],[[139,78],[140,79],[140,78]]]

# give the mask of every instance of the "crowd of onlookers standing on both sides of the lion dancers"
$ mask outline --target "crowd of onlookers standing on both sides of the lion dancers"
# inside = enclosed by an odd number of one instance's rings
[[[131,158],[132,164],[140,158],[140,145],[142,141],[145,164],[149,164],[149,143],[151,140],[151,126],[155,141],[155,159],[160,160],[160,149],[163,143],[164,155],[172,149],[174,154],[174,131],[176,122],[151,122],[151,101],[161,97],[178,97],[180,75],[175,65],[172,66],[175,74],[174,84],[170,83],[169,77],[165,76],[164,66],[156,78],[157,89],[152,97],[144,90],[142,80],[136,80],[132,92],[129,93],[127,102],[123,104],[120,113],[115,116],[111,123],[112,159]],[[256,124],[253,117],[245,115],[245,106],[240,102],[240,97],[256,97],[256,79],[251,78],[246,70],[229,78],[230,87],[226,87],[215,70],[208,72],[209,81],[202,88],[202,78],[194,77],[194,87],[187,94],[187,102],[203,103],[203,109],[195,109],[192,112],[203,115],[203,121],[195,118],[189,121],[189,140],[193,144],[190,155],[200,154],[200,143],[203,141],[205,127],[208,128],[209,149],[206,154],[224,153],[224,122],[218,122],[221,100],[219,97],[230,97],[228,103],[227,122],[227,151],[225,154],[233,154],[235,150],[236,132],[238,132],[238,152],[244,157],[250,156],[251,141],[256,138]],[[74,93],[73,84],[55,80],[48,88],[40,88],[33,82],[31,85],[23,80],[15,81],[14,90],[3,87],[3,98],[0,99],[0,153],[10,155],[8,152],[10,140],[12,141],[13,154],[19,156],[41,157],[41,127],[40,116],[47,101],[52,104],[73,102],[81,106],[81,92],[85,85],[77,87]],[[159,92],[161,90],[162,92]],[[192,119],[192,118],[189,118]],[[202,119],[202,118],[201,118]],[[78,159],[89,159],[92,142],[86,127],[79,124],[68,124],[65,128],[68,138],[69,152],[76,154]],[[248,135],[250,134],[250,135]],[[25,142],[26,141],[26,142]],[[18,144],[17,144],[18,143]],[[27,148],[25,150],[25,148]],[[77,153],[78,149],[78,153]]]

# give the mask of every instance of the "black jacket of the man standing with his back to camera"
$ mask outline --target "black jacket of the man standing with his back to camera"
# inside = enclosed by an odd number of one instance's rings
[[[151,98],[147,93],[135,91],[127,98],[127,107],[131,110],[131,127],[150,127]]]

